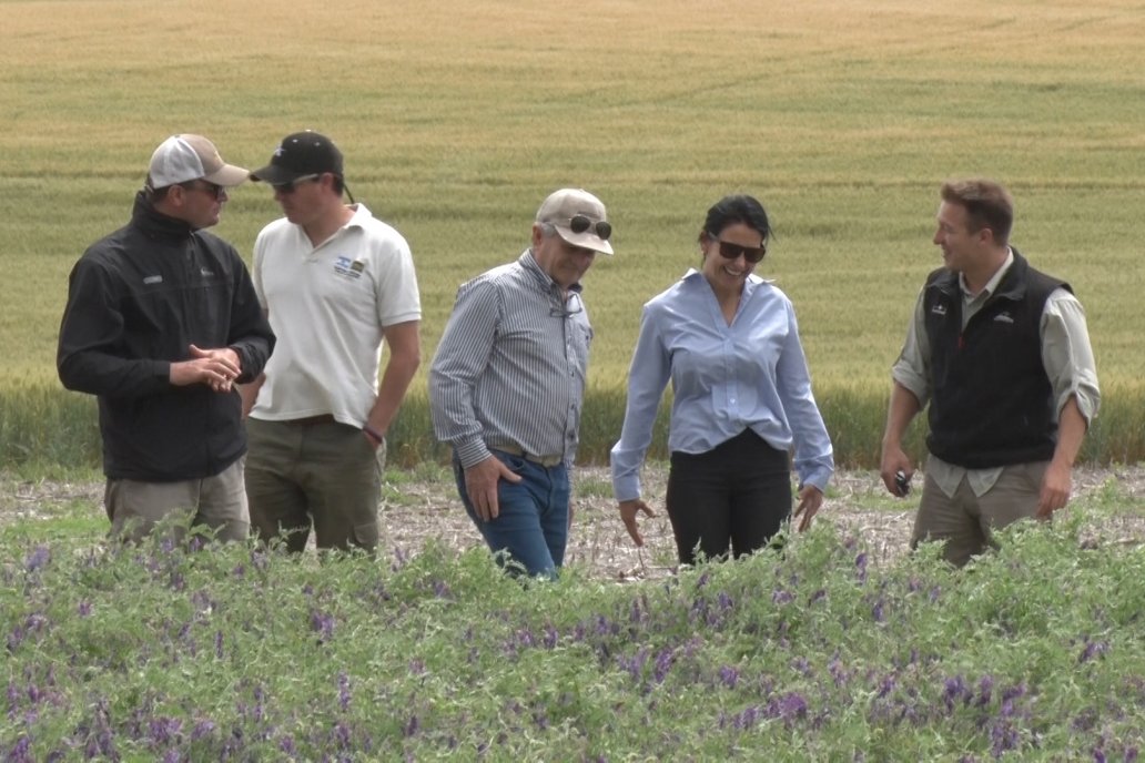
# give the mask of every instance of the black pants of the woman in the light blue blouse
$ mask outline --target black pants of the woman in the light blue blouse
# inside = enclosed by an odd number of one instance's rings
[[[673,452],[668,516],[681,564],[763,548],[791,514],[788,454],[750,429],[706,453]]]

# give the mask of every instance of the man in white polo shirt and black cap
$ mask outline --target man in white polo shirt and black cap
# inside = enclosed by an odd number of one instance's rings
[[[311,527],[318,548],[372,551],[386,431],[421,358],[410,247],[354,204],[325,135],[287,135],[251,177],[285,214],[254,243],[254,285],[279,343],[244,389],[251,522],[291,551],[306,548]]]

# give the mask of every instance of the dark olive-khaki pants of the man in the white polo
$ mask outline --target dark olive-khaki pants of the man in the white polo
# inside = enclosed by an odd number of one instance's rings
[[[318,548],[378,546],[385,443],[374,450],[362,430],[338,422],[247,419],[246,436],[251,524],[263,542],[282,538],[301,551],[313,527]]]

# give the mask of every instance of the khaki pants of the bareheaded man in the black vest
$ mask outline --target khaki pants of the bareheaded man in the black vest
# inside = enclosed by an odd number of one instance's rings
[[[1005,467],[998,480],[982,495],[974,495],[963,477],[954,498],[947,498],[927,476],[910,548],[922,541],[946,541],[942,555],[957,566],[966,564],[970,557],[987,548],[996,548],[992,528],[1002,528],[1037,515],[1042,478],[1048,467],[1048,461]]]

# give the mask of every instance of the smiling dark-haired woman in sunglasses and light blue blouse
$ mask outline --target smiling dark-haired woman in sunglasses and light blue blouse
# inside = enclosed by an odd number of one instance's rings
[[[752,271],[772,236],[750,196],[708,210],[700,270],[689,270],[643,307],[629,372],[613,490],[637,546],[640,468],[668,382],[668,514],[681,564],[763,548],[791,516],[789,452],[799,477],[799,531],[823,502],[835,470],[831,442],[811,390],[791,301]]]

